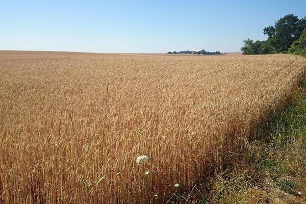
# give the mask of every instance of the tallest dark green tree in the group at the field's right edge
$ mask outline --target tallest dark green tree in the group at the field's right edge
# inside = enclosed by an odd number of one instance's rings
[[[283,46],[279,46],[279,52],[286,51],[292,44],[294,40],[296,40],[296,24],[298,22],[297,16],[293,14],[289,14],[279,19],[275,23],[275,38],[276,41],[279,42],[279,45],[283,44]]]

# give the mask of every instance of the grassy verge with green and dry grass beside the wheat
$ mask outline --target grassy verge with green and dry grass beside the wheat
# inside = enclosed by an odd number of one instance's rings
[[[252,138],[231,167],[172,203],[306,203],[306,79]]]

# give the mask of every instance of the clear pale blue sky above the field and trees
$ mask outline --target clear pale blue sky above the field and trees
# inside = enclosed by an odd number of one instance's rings
[[[242,40],[266,39],[265,27],[305,8],[306,0],[1,0],[0,50],[239,52]]]

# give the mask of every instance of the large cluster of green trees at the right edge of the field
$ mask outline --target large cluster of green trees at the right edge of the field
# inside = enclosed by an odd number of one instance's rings
[[[306,44],[306,17],[299,19],[293,14],[277,20],[275,25],[264,28],[267,40],[254,42],[243,40],[243,55],[265,55],[274,53],[304,54]]]

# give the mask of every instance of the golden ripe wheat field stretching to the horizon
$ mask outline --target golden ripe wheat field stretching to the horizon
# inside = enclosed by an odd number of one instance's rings
[[[305,68],[292,55],[0,52],[0,202],[165,203],[226,165]]]

